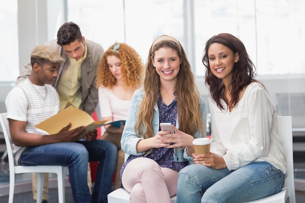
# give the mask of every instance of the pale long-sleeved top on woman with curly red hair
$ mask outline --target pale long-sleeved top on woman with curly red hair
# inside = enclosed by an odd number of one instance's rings
[[[126,120],[131,100],[118,99],[109,88],[98,88],[98,103],[102,118],[112,117],[114,121]]]

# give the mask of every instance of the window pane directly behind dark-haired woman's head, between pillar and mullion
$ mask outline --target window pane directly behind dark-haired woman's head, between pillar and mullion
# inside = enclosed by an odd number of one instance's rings
[[[254,3],[238,0],[195,0],[195,53],[197,76],[205,75],[202,64],[206,41],[219,33],[230,33],[245,44],[253,62],[255,53],[255,7]]]

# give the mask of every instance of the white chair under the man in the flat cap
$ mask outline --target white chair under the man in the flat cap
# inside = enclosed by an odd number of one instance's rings
[[[43,190],[43,176],[44,173],[56,173],[57,183],[58,183],[58,203],[65,202],[65,192],[64,192],[64,169],[65,166],[15,166],[14,157],[11,147],[11,135],[8,126],[8,120],[6,119],[7,113],[0,113],[0,123],[4,134],[8,165],[10,173],[10,189],[8,203],[13,203],[14,199],[14,188],[15,188],[15,174],[20,173],[37,173],[37,203],[41,203],[42,200],[42,190]]]

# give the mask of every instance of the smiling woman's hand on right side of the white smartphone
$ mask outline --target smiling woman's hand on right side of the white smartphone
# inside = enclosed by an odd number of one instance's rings
[[[174,144],[170,145],[167,148],[183,148],[183,147],[192,146],[192,142],[194,140],[193,136],[180,131],[174,125],[172,125],[172,129],[175,131],[175,134],[171,134],[172,142]]]

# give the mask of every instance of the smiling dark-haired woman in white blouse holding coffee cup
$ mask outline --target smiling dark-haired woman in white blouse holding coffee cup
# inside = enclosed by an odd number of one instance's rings
[[[244,44],[227,33],[206,43],[210,154],[193,153],[179,172],[177,203],[242,203],[278,193],[286,160],[277,112]]]

